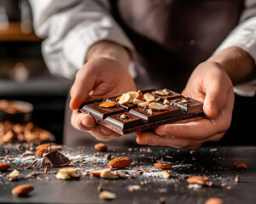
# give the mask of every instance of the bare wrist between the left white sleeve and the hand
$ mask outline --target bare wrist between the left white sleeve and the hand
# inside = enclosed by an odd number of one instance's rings
[[[96,58],[107,58],[119,61],[122,65],[128,68],[131,56],[123,46],[108,41],[97,42],[92,45],[86,55],[86,61]]]

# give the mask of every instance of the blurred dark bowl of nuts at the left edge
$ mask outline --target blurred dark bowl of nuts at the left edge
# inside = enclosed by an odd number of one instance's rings
[[[0,122],[31,122],[32,111],[33,105],[28,102],[0,99]]]

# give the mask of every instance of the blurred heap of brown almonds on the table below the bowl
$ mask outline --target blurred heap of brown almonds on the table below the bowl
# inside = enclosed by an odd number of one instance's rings
[[[0,144],[6,143],[36,143],[51,139],[49,131],[35,126],[32,122],[26,124],[0,122]]]

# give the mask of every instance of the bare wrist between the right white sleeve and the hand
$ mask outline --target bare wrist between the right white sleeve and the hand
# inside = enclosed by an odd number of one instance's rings
[[[242,48],[224,49],[212,55],[207,61],[221,65],[234,84],[246,81],[254,71],[253,58]]]

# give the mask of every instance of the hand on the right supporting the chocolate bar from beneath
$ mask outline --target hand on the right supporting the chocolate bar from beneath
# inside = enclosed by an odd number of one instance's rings
[[[198,65],[182,94],[203,102],[207,117],[162,125],[154,132],[137,132],[138,144],[195,149],[223,137],[230,127],[234,91],[222,65],[212,61]]]

